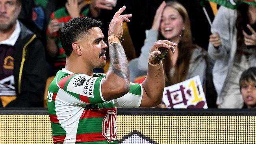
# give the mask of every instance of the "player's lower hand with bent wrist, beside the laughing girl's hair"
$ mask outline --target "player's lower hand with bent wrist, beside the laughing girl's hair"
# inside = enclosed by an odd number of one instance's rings
[[[154,46],[151,48],[151,52],[148,57],[148,62],[155,65],[160,62],[160,60],[165,56],[168,49],[170,48],[172,53],[175,52],[175,46],[177,44],[170,41],[157,41]]]

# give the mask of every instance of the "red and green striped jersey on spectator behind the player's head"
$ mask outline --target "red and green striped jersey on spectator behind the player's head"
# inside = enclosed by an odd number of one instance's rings
[[[81,10],[81,17],[85,17],[87,16],[89,13],[89,5],[85,6],[82,8]],[[65,7],[62,7],[60,9],[57,9],[56,11],[54,11],[50,17],[50,21],[51,20],[56,19],[58,20],[58,22],[61,23],[66,23],[68,22],[70,19],[72,19],[67,11],[67,9]],[[61,29],[60,29],[61,30]],[[49,30],[47,29],[46,33],[49,33]],[[64,68],[65,64],[66,64],[66,55],[64,52],[64,49],[61,46],[61,42],[59,39],[59,31],[54,33],[54,37],[53,37],[57,47],[58,47],[58,55],[56,57],[56,59],[54,60],[54,66],[55,67],[60,67],[60,68]],[[60,70],[60,69],[59,69]]]

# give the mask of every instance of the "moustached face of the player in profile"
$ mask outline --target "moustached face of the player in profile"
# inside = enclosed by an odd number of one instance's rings
[[[103,41],[104,35],[100,28],[93,27],[85,36],[78,40],[82,50],[82,57],[91,68],[100,68],[106,65],[107,44]]]

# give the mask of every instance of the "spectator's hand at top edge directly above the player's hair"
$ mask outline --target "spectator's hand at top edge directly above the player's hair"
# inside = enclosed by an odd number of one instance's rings
[[[66,8],[71,18],[80,17],[81,9],[87,5],[85,2],[78,4],[78,0],[68,0],[66,2]]]

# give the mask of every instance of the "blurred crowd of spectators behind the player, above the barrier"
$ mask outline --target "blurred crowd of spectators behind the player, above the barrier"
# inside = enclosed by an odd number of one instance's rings
[[[0,0],[0,106],[47,107],[48,85],[65,67],[64,24],[94,18],[106,38],[124,5],[131,82],[147,75],[154,43],[169,40],[178,45],[163,59],[166,87],[199,76],[208,108],[256,108],[256,0],[236,9],[204,1],[206,11],[200,0]]]

